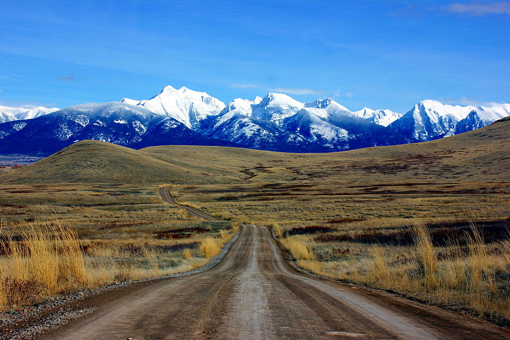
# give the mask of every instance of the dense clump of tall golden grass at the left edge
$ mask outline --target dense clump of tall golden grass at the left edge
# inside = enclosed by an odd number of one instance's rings
[[[87,284],[84,256],[76,231],[64,225],[28,224],[21,240],[2,243],[1,307],[19,306],[42,296]]]

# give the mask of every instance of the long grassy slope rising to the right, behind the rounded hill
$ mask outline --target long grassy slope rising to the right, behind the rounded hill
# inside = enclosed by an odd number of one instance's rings
[[[283,153],[203,146],[153,146],[154,158],[200,164],[250,181],[391,181],[510,179],[510,119],[424,143],[333,153]]]

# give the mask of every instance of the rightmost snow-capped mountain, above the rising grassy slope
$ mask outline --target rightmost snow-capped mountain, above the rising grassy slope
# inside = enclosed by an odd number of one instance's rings
[[[508,107],[508,104],[463,107],[423,100],[388,127],[414,141],[429,141],[486,126],[508,116]],[[474,113],[468,118],[471,112]]]

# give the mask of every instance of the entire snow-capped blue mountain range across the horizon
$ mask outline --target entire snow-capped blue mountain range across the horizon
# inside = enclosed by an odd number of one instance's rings
[[[165,87],[147,100],[122,98],[62,110],[0,107],[0,153],[50,154],[81,140],[132,148],[216,145],[331,152],[429,141],[486,126],[510,104],[451,106],[423,100],[406,113],[349,111],[331,98],[299,102],[268,93],[224,104],[205,92]]]

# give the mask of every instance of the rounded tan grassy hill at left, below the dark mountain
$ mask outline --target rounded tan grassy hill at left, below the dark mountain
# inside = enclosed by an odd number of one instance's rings
[[[183,167],[123,146],[81,141],[38,162],[0,176],[4,184],[31,183],[212,183],[232,182],[228,171]]]

